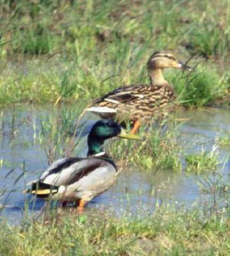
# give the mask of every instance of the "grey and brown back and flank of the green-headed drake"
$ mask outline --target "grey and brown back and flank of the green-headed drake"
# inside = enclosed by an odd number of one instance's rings
[[[53,199],[73,201],[84,198],[89,201],[116,181],[116,171],[116,165],[109,158],[63,158],[44,172],[40,182],[58,187]]]

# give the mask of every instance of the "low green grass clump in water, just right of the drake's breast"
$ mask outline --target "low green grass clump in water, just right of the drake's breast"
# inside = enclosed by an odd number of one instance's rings
[[[175,129],[171,127],[164,132],[161,127],[152,128],[147,134],[143,129],[139,135],[144,141],[114,141],[109,147],[112,158],[121,165],[132,164],[151,172],[159,169],[181,171],[181,147],[176,141]]]

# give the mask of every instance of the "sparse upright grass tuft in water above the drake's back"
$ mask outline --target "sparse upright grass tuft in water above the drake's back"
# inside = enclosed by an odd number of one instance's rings
[[[40,117],[41,129],[36,139],[40,145],[44,145],[49,163],[70,156],[76,146],[81,148],[82,130],[77,124],[82,111],[81,106],[66,109],[59,103],[57,107],[53,106],[52,115]]]

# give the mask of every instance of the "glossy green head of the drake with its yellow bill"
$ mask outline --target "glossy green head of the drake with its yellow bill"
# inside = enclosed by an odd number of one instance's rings
[[[88,135],[88,155],[102,152],[104,141],[115,136],[125,139],[140,139],[137,135],[125,132],[116,122],[99,120],[92,126]]]

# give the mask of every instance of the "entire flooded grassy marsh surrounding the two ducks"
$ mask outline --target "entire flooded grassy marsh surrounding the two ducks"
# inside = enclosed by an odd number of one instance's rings
[[[229,255],[229,1],[0,3],[0,255]],[[84,214],[41,214],[25,184],[84,156],[84,107],[161,49],[193,67],[165,72],[176,113],[105,145],[121,173]]]

